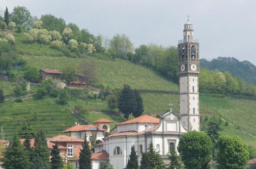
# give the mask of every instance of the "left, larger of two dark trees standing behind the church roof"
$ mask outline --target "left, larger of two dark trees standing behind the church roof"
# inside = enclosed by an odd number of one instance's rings
[[[118,109],[124,114],[126,119],[133,112],[135,107],[135,99],[133,90],[130,85],[124,85],[119,97],[118,97]]]

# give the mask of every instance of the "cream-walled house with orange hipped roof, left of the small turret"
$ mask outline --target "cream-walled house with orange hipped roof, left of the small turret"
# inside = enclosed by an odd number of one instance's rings
[[[90,136],[95,136],[96,140],[102,140],[104,138],[105,129],[99,128],[95,125],[75,125],[63,131],[67,135],[77,138],[85,139],[85,134],[87,136],[87,141],[89,141]]]

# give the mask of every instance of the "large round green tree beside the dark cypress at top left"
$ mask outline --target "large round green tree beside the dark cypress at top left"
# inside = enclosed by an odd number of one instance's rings
[[[32,24],[32,17],[28,9],[24,6],[17,6],[13,8],[11,20],[15,24],[20,24],[24,28],[29,28]]]

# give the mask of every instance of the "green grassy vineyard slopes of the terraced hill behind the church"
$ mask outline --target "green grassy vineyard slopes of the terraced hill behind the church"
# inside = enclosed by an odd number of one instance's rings
[[[144,113],[163,113],[168,110],[168,103],[172,101],[173,109],[178,111],[178,86],[161,78],[154,72],[128,61],[116,59],[98,59],[95,57],[86,58],[68,58],[68,57],[46,57],[46,56],[22,56],[29,64],[38,68],[62,69],[65,65],[72,64],[77,66],[81,60],[90,60],[96,63],[96,72],[98,75],[98,84],[109,85],[112,89],[121,88],[124,83],[130,84],[133,88],[146,90],[142,92],[144,102]],[[6,88],[11,93],[11,84]],[[173,92],[170,93],[170,91]],[[89,115],[85,118],[88,122],[93,122],[99,117],[106,117],[116,122],[124,121],[122,117],[110,116],[107,114],[93,113],[94,111],[108,110],[107,102],[101,99],[78,99],[72,98],[72,101],[66,106],[57,104],[54,98],[45,98],[43,100],[34,100],[33,98],[23,103],[6,102],[1,106],[0,113],[7,136],[13,134],[20,128],[23,121],[31,123],[31,126],[38,130],[43,127],[48,136],[61,133],[61,131],[71,125],[74,125],[76,119],[70,111],[75,104],[81,103],[89,110]],[[38,104],[38,105],[37,105]],[[36,106],[37,105],[37,106]],[[9,108],[11,107],[11,109]],[[248,98],[235,98],[228,96],[200,96],[200,113],[204,115],[221,115],[236,128],[256,135],[255,110],[256,100]],[[15,112],[15,113],[14,113]],[[243,116],[241,116],[241,112]],[[34,118],[36,117],[36,118]],[[82,121],[80,121],[83,123]],[[248,125],[250,124],[250,125]],[[112,127],[114,124],[112,125]],[[234,129],[231,126],[224,126],[222,134],[239,135],[243,140],[251,145],[256,145],[256,139]]]

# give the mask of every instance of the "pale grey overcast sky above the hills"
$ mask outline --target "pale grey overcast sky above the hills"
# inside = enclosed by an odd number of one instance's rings
[[[0,8],[26,6],[32,16],[62,17],[91,33],[128,35],[135,47],[176,46],[190,15],[200,57],[249,60],[256,65],[256,0],[0,0]]]

